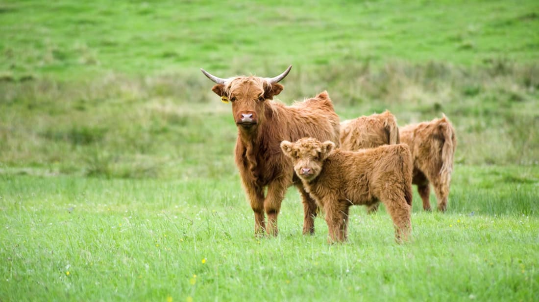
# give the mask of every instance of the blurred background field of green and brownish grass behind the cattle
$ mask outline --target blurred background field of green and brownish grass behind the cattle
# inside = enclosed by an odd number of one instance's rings
[[[308,8],[308,9],[306,9]],[[3,169],[107,177],[234,172],[230,108],[199,68],[328,90],[343,119],[445,113],[462,164],[539,160],[539,4],[3,2]]]

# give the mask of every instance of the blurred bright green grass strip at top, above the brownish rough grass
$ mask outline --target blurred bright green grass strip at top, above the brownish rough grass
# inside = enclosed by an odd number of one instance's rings
[[[0,13],[0,70],[15,78],[536,62],[539,51],[534,1],[4,1]]]

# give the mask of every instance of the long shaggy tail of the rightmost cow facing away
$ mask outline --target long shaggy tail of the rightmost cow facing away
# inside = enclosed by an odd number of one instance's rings
[[[441,168],[440,181],[449,186],[451,182],[451,172],[453,171],[453,156],[457,140],[451,122],[447,117],[443,116],[438,124],[440,134],[443,137],[443,145],[441,146]]]

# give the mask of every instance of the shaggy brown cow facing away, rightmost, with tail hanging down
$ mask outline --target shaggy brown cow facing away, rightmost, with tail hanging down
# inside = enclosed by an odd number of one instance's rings
[[[453,171],[453,155],[457,147],[455,130],[449,119],[433,119],[400,128],[400,139],[410,146],[413,158],[412,183],[423,200],[423,208],[431,210],[429,201],[432,183],[438,198],[438,210],[445,211]]]

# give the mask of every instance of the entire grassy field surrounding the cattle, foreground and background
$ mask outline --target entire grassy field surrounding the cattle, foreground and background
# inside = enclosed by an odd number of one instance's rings
[[[539,300],[534,1],[0,3],[0,301]],[[230,104],[199,71],[328,90],[342,119],[445,113],[447,213],[413,241],[353,207],[349,241],[254,238]],[[415,189],[415,188],[414,188]],[[431,196],[431,200],[434,195]]]

